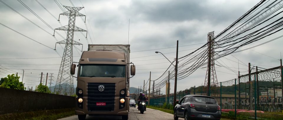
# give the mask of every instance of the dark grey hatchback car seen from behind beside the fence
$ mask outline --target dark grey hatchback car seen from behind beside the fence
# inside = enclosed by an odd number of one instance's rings
[[[190,119],[207,119],[220,120],[220,106],[215,98],[201,95],[186,95],[176,102],[174,108],[174,119],[185,118]]]

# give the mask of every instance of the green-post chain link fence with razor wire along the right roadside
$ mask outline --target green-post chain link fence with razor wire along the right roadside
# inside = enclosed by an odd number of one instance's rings
[[[221,106],[223,115],[243,119],[283,119],[281,75],[280,66],[239,75],[236,79],[211,86],[210,93]],[[207,87],[179,91],[176,100],[189,94],[207,95]],[[150,98],[150,106],[173,110],[173,96],[154,96]]]

